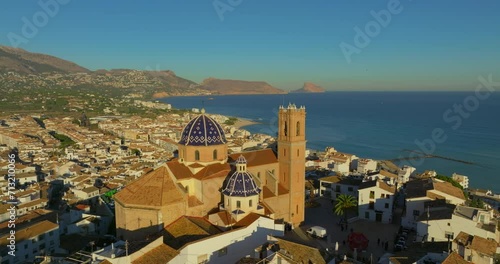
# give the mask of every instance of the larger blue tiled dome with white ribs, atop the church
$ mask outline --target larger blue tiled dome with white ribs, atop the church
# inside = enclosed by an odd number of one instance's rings
[[[212,146],[227,143],[222,127],[204,113],[193,118],[182,131],[179,144]]]

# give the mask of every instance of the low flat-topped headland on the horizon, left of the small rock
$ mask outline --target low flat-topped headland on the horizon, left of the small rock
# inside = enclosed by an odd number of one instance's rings
[[[208,78],[203,80],[200,88],[208,90],[213,94],[284,94],[285,91],[278,89],[266,82],[222,80]]]

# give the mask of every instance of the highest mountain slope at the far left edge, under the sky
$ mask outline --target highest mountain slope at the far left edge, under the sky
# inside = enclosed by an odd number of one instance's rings
[[[38,74],[45,72],[89,72],[73,62],[23,49],[0,46],[0,73]]]

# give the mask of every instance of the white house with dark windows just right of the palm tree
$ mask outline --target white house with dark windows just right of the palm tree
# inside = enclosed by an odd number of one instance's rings
[[[363,182],[359,186],[358,215],[369,221],[392,223],[395,186],[382,180]]]

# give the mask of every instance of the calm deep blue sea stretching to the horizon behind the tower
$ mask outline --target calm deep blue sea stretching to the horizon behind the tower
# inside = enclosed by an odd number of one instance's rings
[[[170,97],[162,101],[175,108],[204,106],[209,113],[255,120],[260,124],[245,128],[270,135],[276,135],[279,105],[304,105],[308,149],[333,146],[373,159],[405,157],[407,149],[432,151],[474,165],[438,158],[398,164],[444,175],[468,175],[471,187],[500,192],[500,94],[474,98],[474,92],[328,92]],[[454,112],[454,105],[464,102],[469,108]],[[442,129],[439,142],[432,140],[435,129]],[[427,144],[422,148],[418,142]]]

